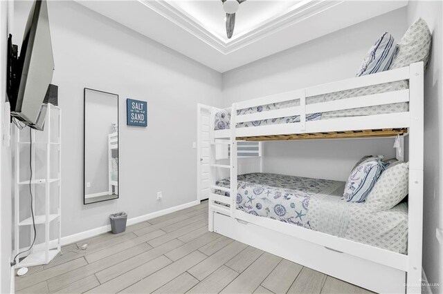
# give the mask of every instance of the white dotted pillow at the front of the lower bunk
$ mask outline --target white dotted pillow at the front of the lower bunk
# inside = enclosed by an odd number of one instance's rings
[[[372,188],[365,204],[377,210],[389,210],[408,195],[409,163],[397,161],[386,168]]]

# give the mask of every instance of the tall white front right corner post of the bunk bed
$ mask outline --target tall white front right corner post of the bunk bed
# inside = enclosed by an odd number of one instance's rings
[[[421,293],[423,236],[424,66],[410,65],[408,271],[406,293]]]

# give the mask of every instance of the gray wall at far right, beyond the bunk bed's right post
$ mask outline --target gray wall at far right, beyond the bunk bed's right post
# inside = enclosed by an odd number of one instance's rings
[[[409,1],[408,25],[418,17],[433,34],[431,58],[424,75],[424,226],[423,267],[434,293],[443,291],[443,244],[435,237],[443,228],[443,5],[442,1]]]

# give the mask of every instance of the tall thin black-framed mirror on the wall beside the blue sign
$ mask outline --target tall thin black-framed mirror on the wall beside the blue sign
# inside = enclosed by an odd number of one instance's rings
[[[84,204],[118,198],[118,95],[84,88]]]

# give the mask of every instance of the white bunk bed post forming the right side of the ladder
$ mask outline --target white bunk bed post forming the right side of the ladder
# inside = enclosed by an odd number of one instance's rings
[[[233,103],[230,109],[230,216],[235,217],[237,210],[237,106]]]

